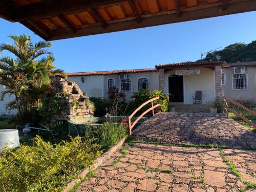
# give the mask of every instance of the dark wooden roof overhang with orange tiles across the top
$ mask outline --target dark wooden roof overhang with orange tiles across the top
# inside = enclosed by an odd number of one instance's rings
[[[256,0],[0,0],[0,17],[45,40],[256,10]]]

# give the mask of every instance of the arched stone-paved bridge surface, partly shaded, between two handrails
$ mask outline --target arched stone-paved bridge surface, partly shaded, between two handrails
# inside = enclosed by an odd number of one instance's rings
[[[158,113],[133,132],[140,140],[160,143],[195,143],[256,147],[256,133],[225,114]]]

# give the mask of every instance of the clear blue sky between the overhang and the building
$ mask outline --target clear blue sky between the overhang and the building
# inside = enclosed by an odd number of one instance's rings
[[[206,52],[235,42],[256,40],[256,12],[178,24],[52,41],[54,65],[66,72],[154,68],[162,63],[195,61]],[[0,18],[0,42],[11,34],[41,38],[18,23]],[[4,30],[2,30],[4,29]],[[5,54],[5,52],[3,52]]]

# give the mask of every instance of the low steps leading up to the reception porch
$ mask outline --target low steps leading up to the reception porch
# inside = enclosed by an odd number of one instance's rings
[[[214,104],[183,104],[183,103],[170,103],[172,112],[177,113],[210,113],[210,108],[214,108]]]

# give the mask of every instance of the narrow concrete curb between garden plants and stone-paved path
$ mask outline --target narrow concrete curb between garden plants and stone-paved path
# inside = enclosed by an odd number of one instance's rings
[[[99,156],[97,159],[95,159],[94,163],[90,165],[89,167],[86,167],[82,170],[82,172],[78,175],[78,178],[68,183],[66,188],[62,192],[68,192],[74,185],[79,183],[82,178],[86,177],[88,173],[90,173],[91,170],[97,168],[100,166],[106,159],[108,159],[113,153],[115,153],[121,146],[123,145],[125,139],[121,139],[115,146],[112,146],[109,151],[103,153],[101,156]]]

